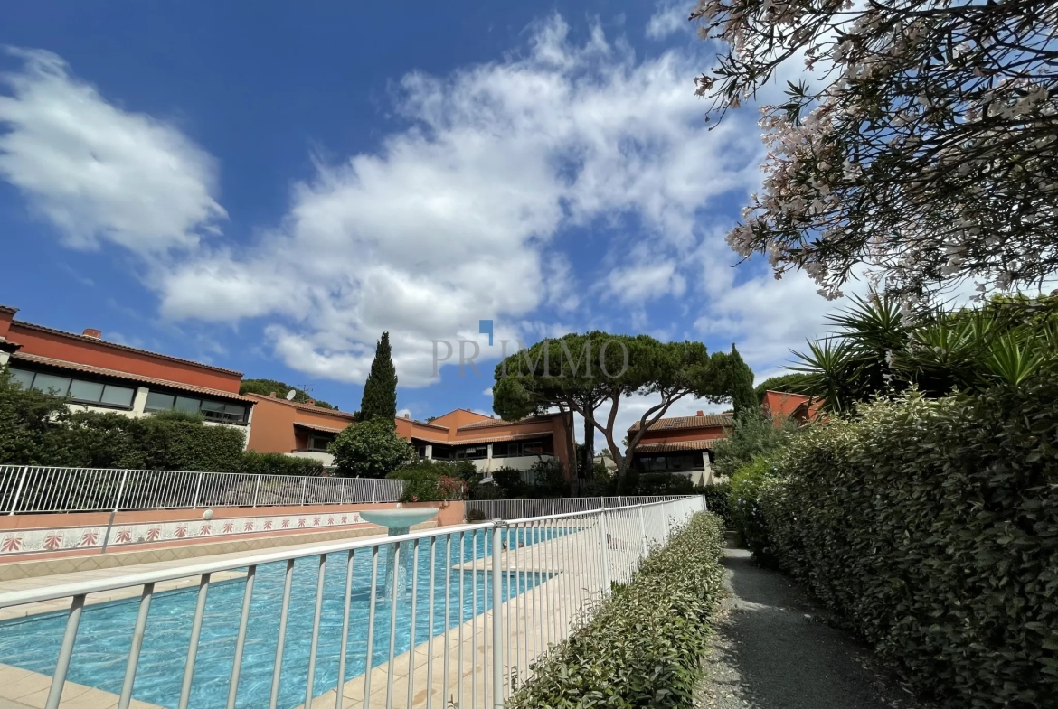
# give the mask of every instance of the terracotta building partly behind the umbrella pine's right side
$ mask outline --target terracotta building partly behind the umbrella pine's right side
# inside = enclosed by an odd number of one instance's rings
[[[646,428],[632,458],[632,466],[643,472],[673,472],[687,475],[695,485],[719,482],[713,474],[712,450],[734,424],[730,413],[659,418]],[[639,422],[628,429],[631,440]]]

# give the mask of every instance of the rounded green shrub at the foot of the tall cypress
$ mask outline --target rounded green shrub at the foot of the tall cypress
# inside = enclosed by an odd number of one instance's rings
[[[385,478],[417,459],[408,441],[397,435],[391,418],[372,418],[347,427],[331,443],[340,475]]]

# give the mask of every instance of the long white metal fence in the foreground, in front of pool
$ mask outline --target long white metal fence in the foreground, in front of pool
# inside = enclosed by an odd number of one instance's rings
[[[52,675],[48,709],[68,682],[120,709],[497,708],[703,510],[683,498],[0,594],[0,609],[71,599],[0,626],[0,663]]]

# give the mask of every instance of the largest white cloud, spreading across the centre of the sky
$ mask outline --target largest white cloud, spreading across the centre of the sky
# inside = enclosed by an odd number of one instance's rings
[[[759,180],[753,130],[707,130],[690,80],[698,69],[678,52],[637,59],[598,26],[573,43],[555,16],[523,55],[408,74],[396,109],[409,127],[375,152],[321,165],[253,246],[175,267],[159,281],[163,314],[267,317],[286,365],[345,381],[363,380],[364,344],[388,330],[400,384],[428,385],[432,339],[484,342],[478,319],[512,328],[541,309],[582,306],[578,291],[590,284],[562,254],[564,228],[630,216],[636,239],[671,260],[696,247],[699,209]],[[622,298],[686,290],[669,261],[604,261],[622,265],[597,287],[620,286]],[[482,346],[479,362],[496,355]]]

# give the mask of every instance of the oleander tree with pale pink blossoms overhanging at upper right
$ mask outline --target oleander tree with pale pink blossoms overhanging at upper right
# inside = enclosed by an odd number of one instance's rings
[[[714,115],[800,62],[809,79],[760,109],[763,186],[728,235],[741,256],[828,298],[862,269],[906,309],[1055,273],[1053,0],[699,0],[690,19],[723,42],[696,79]]]

